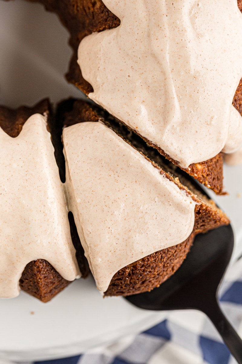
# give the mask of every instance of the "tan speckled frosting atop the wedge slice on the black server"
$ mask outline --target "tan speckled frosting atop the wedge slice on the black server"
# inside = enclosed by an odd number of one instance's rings
[[[65,128],[63,145],[68,208],[99,290],[190,235],[193,199],[102,122]]]

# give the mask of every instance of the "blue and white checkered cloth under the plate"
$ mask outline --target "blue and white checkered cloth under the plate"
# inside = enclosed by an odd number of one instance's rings
[[[220,304],[242,337],[242,259],[220,288]],[[167,313],[160,324],[105,348],[65,359],[21,364],[234,364],[235,359],[206,316],[196,310]],[[7,364],[2,363],[0,364]],[[20,363],[19,363],[20,364]]]

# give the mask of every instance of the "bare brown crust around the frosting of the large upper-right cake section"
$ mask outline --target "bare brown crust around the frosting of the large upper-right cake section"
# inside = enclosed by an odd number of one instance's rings
[[[63,25],[70,32],[70,46],[73,48],[73,56],[70,62],[67,80],[73,83],[86,95],[93,91],[92,86],[83,79],[81,70],[77,64],[77,50],[80,41],[86,35],[93,32],[100,32],[105,29],[115,28],[120,24],[120,20],[111,13],[102,0],[28,0],[39,2],[45,5],[48,11],[58,14]],[[238,7],[242,10],[242,0],[238,0]],[[237,101],[242,100],[242,90],[238,88],[236,92]],[[241,101],[240,101],[241,102]],[[236,107],[236,106],[235,106]],[[239,110],[239,112],[241,112]],[[177,161],[169,157],[162,149],[153,145],[159,152],[179,165]],[[206,187],[214,190],[217,194],[223,194],[223,154],[219,153],[208,161],[193,163],[184,171],[203,183]]]

